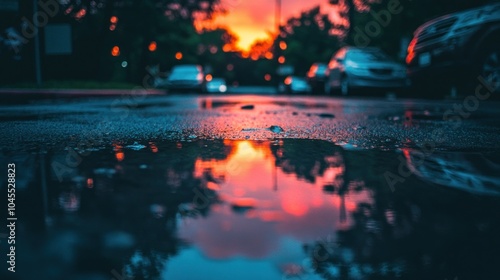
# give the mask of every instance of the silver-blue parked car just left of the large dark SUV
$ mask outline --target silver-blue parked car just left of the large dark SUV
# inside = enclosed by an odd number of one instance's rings
[[[377,48],[343,47],[328,64],[325,92],[343,95],[355,89],[402,89],[409,86],[406,67]]]

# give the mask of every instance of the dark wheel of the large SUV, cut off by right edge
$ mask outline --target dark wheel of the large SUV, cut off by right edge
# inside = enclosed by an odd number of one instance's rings
[[[481,77],[495,89],[495,93],[500,93],[500,44],[493,44],[487,48],[480,61]]]

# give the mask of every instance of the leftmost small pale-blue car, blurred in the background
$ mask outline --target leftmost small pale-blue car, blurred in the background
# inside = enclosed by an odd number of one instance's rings
[[[200,65],[177,65],[167,79],[169,90],[193,90],[197,92],[206,91],[205,74]]]

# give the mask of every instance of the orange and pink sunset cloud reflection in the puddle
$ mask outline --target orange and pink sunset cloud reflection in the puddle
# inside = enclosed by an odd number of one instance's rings
[[[276,255],[285,239],[299,250],[350,227],[353,221],[346,212],[355,211],[359,203],[371,203],[366,190],[342,191],[346,186],[340,151],[331,150],[306,170],[295,164],[297,159],[289,154],[294,151],[282,141],[224,144],[231,147],[226,158],[198,157],[194,169],[194,176],[217,192],[220,203],[205,218],[186,217],[179,227],[179,237],[196,244],[206,257],[270,258],[286,266]],[[325,186],[333,191],[325,191]]]

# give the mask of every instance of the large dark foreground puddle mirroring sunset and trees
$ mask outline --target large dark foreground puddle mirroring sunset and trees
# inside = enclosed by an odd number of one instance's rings
[[[5,153],[0,162],[18,158]],[[18,176],[31,180],[16,193],[19,279],[499,272],[498,154],[195,140],[28,158]]]

